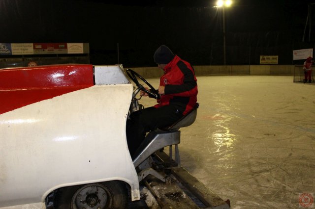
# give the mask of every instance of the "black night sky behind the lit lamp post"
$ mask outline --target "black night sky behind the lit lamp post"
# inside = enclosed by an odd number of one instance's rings
[[[88,42],[92,64],[154,65],[165,44],[195,65],[222,64],[222,11],[215,0],[1,0],[0,43]],[[292,50],[314,48],[308,4],[315,0],[234,0],[225,9],[227,64],[259,55],[292,63]]]

